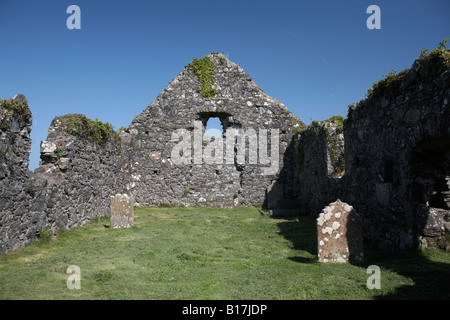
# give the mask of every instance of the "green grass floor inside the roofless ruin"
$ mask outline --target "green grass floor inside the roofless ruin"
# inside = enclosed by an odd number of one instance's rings
[[[256,208],[136,208],[135,225],[108,218],[0,256],[0,299],[449,298],[450,254],[367,253],[364,265],[317,260],[315,220]],[[381,268],[381,290],[366,287]],[[81,289],[69,290],[69,265]]]

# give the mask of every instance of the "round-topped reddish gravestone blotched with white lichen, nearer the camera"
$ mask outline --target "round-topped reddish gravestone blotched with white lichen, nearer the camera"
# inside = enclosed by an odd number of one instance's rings
[[[352,206],[337,200],[323,209],[317,219],[320,262],[363,261],[362,219]]]

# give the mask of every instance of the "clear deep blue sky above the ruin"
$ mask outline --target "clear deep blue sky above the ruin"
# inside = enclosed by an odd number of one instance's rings
[[[69,5],[81,30],[69,30]],[[369,30],[369,5],[381,29]],[[450,36],[449,0],[0,0],[0,97],[33,113],[30,168],[57,115],[128,127],[192,58],[224,52],[309,124]]]

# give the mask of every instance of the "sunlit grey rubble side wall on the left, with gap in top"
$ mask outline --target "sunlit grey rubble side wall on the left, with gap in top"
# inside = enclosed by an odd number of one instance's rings
[[[31,113],[16,112],[9,119],[12,125],[2,129],[0,146],[6,169],[0,178],[0,253],[32,243],[43,230],[55,235],[109,213],[109,196],[120,177],[116,141],[99,145],[67,134],[61,128],[63,117],[57,117],[41,143],[40,166],[32,173]]]

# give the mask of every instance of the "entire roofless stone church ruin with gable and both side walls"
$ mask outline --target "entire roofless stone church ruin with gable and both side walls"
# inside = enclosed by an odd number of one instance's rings
[[[53,119],[28,172],[31,112],[0,101],[0,253],[135,205],[253,206],[318,217],[337,199],[364,240],[400,255],[447,244],[450,59],[430,53],[368,97],[306,126],[223,54],[194,59],[126,129],[80,114]],[[220,138],[204,135],[211,118]],[[270,170],[275,167],[276,170]]]

